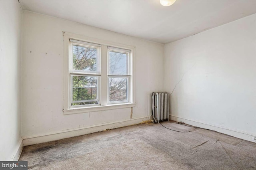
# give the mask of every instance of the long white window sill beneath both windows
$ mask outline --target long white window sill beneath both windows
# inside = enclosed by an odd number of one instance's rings
[[[113,105],[105,105],[105,106],[92,106],[92,107],[80,107],[80,108],[70,108],[63,110],[64,115],[71,115],[77,113],[87,113],[87,112],[96,112],[96,111],[106,111],[113,109],[123,109],[135,107],[135,103],[122,103],[122,104],[113,104]]]

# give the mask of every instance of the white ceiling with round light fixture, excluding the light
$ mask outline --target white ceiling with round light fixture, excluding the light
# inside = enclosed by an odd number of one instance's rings
[[[24,10],[169,43],[256,13],[256,0],[20,0]]]

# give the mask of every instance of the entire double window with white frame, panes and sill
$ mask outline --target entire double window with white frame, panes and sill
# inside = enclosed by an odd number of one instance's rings
[[[134,47],[64,34],[64,114],[134,107]]]

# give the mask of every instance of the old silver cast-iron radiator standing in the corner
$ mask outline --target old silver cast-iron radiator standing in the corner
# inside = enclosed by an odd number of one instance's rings
[[[152,115],[154,123],[169,120],[169,95],[167,92],[152,92]]]

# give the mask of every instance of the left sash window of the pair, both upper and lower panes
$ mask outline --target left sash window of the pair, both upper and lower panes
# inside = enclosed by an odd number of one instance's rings
[[[99,104],[100,46],[70,39],[71,106]]]

